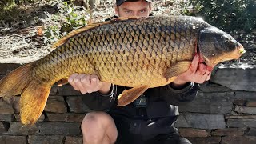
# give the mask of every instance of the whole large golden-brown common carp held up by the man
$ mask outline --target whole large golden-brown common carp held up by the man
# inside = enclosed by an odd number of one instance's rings
[[[148,88],[173,82],[189,69],[195,54],[213,68],[245,52],[229,34],[188,16],[116,18],[74,30],[53,47],[0,81],[1,97],[21,94],[23,124],[38,120],[51,86],[73,73],[133,87],[118,96],[118,106],[125,106]]]

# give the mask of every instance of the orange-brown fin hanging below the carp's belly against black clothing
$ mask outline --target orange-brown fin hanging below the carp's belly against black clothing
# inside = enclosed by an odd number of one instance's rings
[[[126,106],[130,102],[134,102],[140,95],[142,95],[148,86],[134,87],[129,90],[124,90],[122,94],[118,96],[118,106]]]

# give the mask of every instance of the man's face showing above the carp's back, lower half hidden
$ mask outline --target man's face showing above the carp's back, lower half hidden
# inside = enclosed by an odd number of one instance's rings
[[[115,13],[119,17],[148,17],[150,15],[150,2],[140,0],[137,2],[123,2],[115,7]]]

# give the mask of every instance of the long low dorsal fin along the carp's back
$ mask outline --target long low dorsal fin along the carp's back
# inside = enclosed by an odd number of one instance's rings
[[[110,23],[115,23],[115,22],[121,22],[121,21],[126,21],[128,19],[137,19],[136,17],[130,17],[130,18],[123,18],[123,17],[120,17],[120,18],[114,18],[114,19],[111,19],[110,21],[106,21],[106,22],[98,22],[98,23],[92,23],[90,25],[87,25],[87,26],[83,26],[77,30],[73,30],[71,31],[69,34],[67,34],[65,37],[62,37],[58,40],[58,42],[55,42],[54,45],[52,46],[52,48],[56,48],[58,46],[62,46],[69,38],[73,37],[74,35],[76,34],[79,34],[81,32],[84,32],[86,30],[90,30],[90,29],[94,29],[98,26],[102,26],[102,25],[106,25],[106,24],[110,24]]]

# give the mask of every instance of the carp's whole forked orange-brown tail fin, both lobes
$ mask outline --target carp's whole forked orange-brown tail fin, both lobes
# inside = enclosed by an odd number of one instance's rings
[[[20,98],[23,124],[34,124],[41,116],[50,93],[50,83],[32,78],[32,63],[21,66],[0,80],[0,97],[22,94]]]

